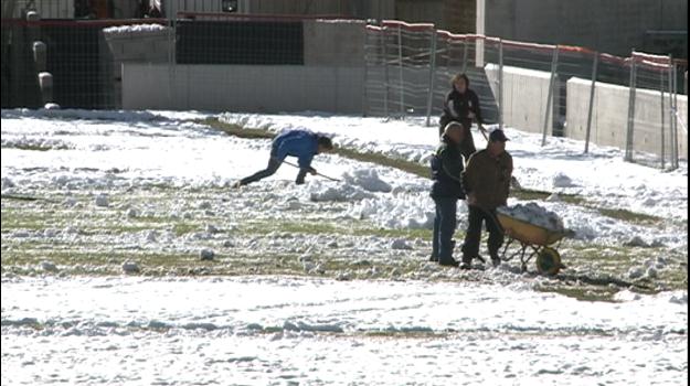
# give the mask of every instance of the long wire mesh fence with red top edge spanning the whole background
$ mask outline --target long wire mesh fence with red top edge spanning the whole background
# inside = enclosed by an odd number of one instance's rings
[[[41,20],[24,10],[3,18],[2,107],[138,106],[123,103],[127,65],[137,67],[129,82],[146,85],[139,89],[164,90],[147,108],[189,109],[211,99],[209,109],[261,112],[248,106],[262,104],[261,89],[276,88],[272,98],[293,110],[425,117],[432,126],[450,78],[465,73],[486,124],[540,133],[543,143],[553,136],[583,140],[584,152],[592,142],[614,146],[628,161],[662,169],[687,159],[687,96],[679,95],[687,61],[454,34],[433,24],[162,4],[176,7],[176,17]]]

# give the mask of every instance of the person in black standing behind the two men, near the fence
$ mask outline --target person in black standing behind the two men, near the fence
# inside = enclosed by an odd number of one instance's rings
[[[452,81],[453,90],[446,96],[443,115],[439,119],[438,136],[443,135],[443,130],[449,122],[460,122],[465,129],[465,138],[460,146],[460,151],[465,160],[475,153],[475,141],[471,136],[473,119],[477,121],[479,130],[484,131],[481,124],[481,108],[479,107],[479,98],[477,94],[469,89],[469,78],[465,74],[457,74]]]

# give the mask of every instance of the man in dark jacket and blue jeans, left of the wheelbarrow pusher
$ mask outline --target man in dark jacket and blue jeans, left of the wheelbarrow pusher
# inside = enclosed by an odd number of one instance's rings
[[[457,201],[465,200],[460,182],[464,162],[459,148],[465,133],[463,125],[455,121],[448,124],[432,158],[432,199],[436,204],[436,218],[431,261],[438,261],[442,266],[458,266],[453,258],[453,234],[457,225]]]

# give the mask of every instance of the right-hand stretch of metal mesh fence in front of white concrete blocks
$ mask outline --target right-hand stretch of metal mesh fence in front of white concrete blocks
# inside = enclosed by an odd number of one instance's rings
[[[400,21],[368,25],[365,44],[367,115],[424,115],[432,125],[449,79],[466,73],[485,122],[539,132],[542,146],[565,136],[584,140],[584,152],[591,142],[616,146],[627,161],[664,169],[678,168],[687,154],[678,103],[687,61],[635,51],[618,57]]]

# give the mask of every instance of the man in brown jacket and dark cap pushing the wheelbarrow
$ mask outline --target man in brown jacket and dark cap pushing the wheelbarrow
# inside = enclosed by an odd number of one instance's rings
[[[512,176],[512,157],[506,151],[506,141],[508,138],[502,130],[491,131],[487,148],[474,153],[463,172],[469,224],[465,234],[460,268],[469,269],[473,258],[480,258],[482,223],[486,223],[489,230],[488,249],[491,262],[495,267],[500,264],[498,249],[503,244],[503,230],[498,224],[496,208],[506,205]]]

